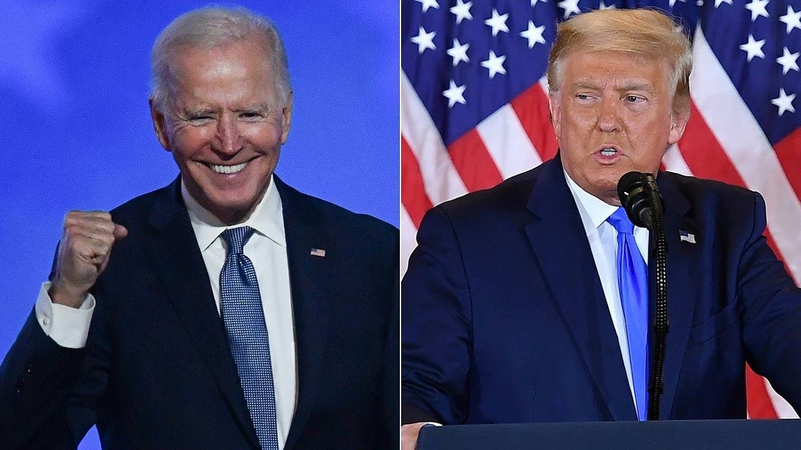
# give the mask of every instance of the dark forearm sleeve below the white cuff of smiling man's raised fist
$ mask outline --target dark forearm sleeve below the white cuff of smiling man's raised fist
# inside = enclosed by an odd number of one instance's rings
[[[77,448],[97,422],[110,364],[103,303],[85,348],[58,345],[31,311],[0,365],[0,448]]]

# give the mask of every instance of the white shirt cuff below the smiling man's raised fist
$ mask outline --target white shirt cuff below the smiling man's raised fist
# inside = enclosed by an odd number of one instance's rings
[[[95,297],[87,294],[80,307],[53,303],[47,290],[50,282],[42,283],[36,299],[36,321],[42,331],[56,344],[66,348],[84,348],[87,345],[89,325],[95,312]]]

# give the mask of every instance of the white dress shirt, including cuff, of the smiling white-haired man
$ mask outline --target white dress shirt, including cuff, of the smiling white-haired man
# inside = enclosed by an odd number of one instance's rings
[[[297,360],[295,327],[292,314],[292,292],[289,285],[286,233],[281,199],[270,179],[264,199],[256,205],[243,223],[226,226],[189,195],[181,183],[181,195],[187,205],[189,219],[203,263],[211,280],[219,313],[219,274],[225,262],[226,249],[220,236],[227,228],[252,227],[256,230],[244,246],[259,281],[264,323],[270,340],[272,376],[276,392],[276,422],[279,448],[284,448],[297,405]],[[114,251],[111,251],[114,258]],[[36,301],[36,317],[42,330],[57,344],[68,348],[83,348],[87,342],[95,299],[87,295],[79,308],[52,303],[44,283]]]

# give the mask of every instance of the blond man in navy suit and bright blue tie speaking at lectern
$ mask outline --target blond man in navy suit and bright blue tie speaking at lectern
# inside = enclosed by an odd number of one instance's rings
[[[421,223],[402,284],[404,448],[429,422],[646,420],[654,238],[620,207],[629,171],[654,173],[664,199],[660,418],[744,418],[746,363],[801,410],[801,292],[767,246],[762,197],[659,172],[690,69],[690,42],[654,10],[558,27],[556,157]]]

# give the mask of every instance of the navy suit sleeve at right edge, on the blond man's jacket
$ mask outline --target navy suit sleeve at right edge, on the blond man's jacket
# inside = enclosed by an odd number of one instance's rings
[[[743,342],[751,368],[801,412],[801,290],[763,235],[765,203],[754,193],[753,229],[738,268]]]

